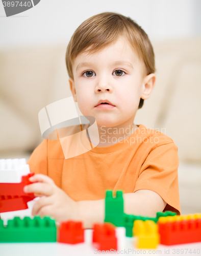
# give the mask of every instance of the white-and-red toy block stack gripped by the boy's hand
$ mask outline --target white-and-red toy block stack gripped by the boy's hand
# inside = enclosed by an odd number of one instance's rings
[[[25,158],[0,160],[0,212],[28,208],[35,196],[24,193],[23,187],[31,184],[33,175]]]

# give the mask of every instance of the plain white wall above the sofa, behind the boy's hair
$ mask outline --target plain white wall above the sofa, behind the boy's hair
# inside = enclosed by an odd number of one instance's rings
[[[95,14],[112,11],[132,19],[150,39],[200,34],[200,0],[41,0],[34,8],[6,17],[0,2],[0,49],[69,40]]]

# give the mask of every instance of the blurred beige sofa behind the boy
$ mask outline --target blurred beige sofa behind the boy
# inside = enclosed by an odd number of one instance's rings
[[[135,119],[166,133],[178,146],[183,214],[201,212],[200,45],[201,38],[153,42],[156,88]],[[71,96],[66,47],[30,46],[0,53],[0,158],[28,159],[42,141],[38,112]]]

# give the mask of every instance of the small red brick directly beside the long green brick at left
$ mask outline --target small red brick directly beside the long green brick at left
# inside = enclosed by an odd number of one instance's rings
[[[84,228],[82,222],[62,222],[58,229],[58,242],[77,244],[84,242]]]

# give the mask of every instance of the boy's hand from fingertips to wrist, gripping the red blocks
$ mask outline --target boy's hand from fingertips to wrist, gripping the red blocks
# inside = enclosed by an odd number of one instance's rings
[[[78,202],[73,201],[54,181],[46,175],[35,174],[29,179],[33,184],[24,186],[24,193],[41,196],[32,210],[32,215],[52,216],[57,221],[77,219]]]

